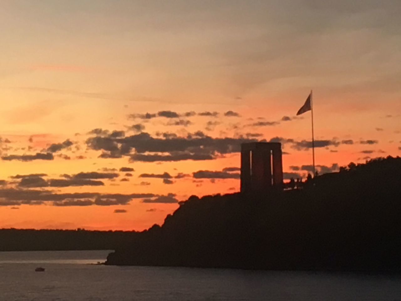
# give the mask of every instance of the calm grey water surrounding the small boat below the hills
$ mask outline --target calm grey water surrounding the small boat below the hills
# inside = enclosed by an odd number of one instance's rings
[[[107,254],[0,252],[0,300],[401,300],[401,276],[395,275],[90,264]],[[37,266],[46,271],[35,272]]]

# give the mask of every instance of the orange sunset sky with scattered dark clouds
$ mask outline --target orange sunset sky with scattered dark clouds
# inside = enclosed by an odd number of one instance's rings
[[[143,230],[239,191],[401,154],[401,2],[0,2],[0,228]]]

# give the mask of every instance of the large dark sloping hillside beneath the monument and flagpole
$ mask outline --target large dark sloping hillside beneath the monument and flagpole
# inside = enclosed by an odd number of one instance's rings
[[[401,158],[351,163],[268,196],[192,196],[106,264],[399,271]]]

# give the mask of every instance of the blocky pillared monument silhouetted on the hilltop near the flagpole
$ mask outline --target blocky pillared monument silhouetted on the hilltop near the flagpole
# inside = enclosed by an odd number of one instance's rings
[[[282,189],[283,163],[281,143],[241,144],[241,193],[263,193]]]

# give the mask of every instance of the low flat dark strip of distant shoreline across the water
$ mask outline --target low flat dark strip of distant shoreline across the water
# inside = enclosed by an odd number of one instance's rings
[[[138,232],[0,229],[0,251],[114,250]]]

